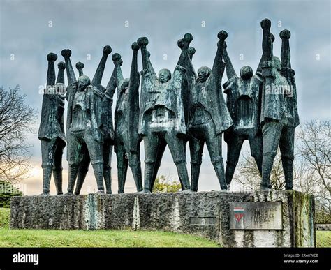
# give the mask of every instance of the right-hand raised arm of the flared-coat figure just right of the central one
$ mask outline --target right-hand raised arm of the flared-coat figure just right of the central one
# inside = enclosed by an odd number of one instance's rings
[[[217,52],[214,59],[214,64],[212,66],[212,84],[215,84],[217,89],[222,87],[222,76],[225,68],[225,63],[223,63],[223,52],[224,52],[224,43],[228,37],[226,31],[220,31],[217,34],[219,42],[217,43]]]

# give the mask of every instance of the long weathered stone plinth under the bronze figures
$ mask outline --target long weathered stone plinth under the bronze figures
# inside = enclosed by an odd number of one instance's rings
[[[225,247],[314,247],[316,242],[314,196],[294,190],[13,197],[10,227],[164,230]]]

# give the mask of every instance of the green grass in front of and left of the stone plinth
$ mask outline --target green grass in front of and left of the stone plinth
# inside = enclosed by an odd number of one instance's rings
[[[0,208],[0,247],[217,247],[203,237],[131,230],[9,230],[9,209]]]

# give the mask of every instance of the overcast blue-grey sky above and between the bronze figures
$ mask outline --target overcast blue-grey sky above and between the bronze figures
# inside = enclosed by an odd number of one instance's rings
[[[175,68],[180,54],[177,40],[184,33],[192,33],[191,45],[196,48],[193,65],[198,70],[200,66],[212,66],[216,35],[220,30],[228,32],[228,53],[237,73],[245,65],[256,70],[262,53],[260,21],[265,17],[272,21],[271,30],[276,37],[274,55],[280,55],[279,32],[291,31],[291,61],[295,69],[300,121],[331,119],[330,1],[0,0],[0,85],[8,89],[20,84],[22,92],[27,94],[27,103],[38,110],[40,119],[42,95],[39,87],[46,82],[46,55],[49,52],[58,54],[58,61],[63,61],[61,50],[70,48],[73,65],[82,61],[84,74],[93,77],[103,46],[110,45],[112,52],[122,55],[122,71],[124,77],[128,77],[131,43],[137,38],[149,38],[147,49],[158,72],[161,68]],[[141,70],[140,54],[138,61]],[[110,59],[103,75],[104,86],[112,68]],[[224,75],[223,82],[226,80]],[[31,149],[34,169],[24,182],[29,195],[42,191],[38,123],[35,134],[27,137],[27,141],[34,144]],[[143,158],[142,151],[142,161]],[[226,161],[226,144],[223,144],[223,158]],[[66,190],[68,166],[65,156],[63,160]],[[189,158],[187,162],[189,169]],[[115,154],[112,168],[113,193],[117,193]],[[177,179],[168,149],[159,174]],[[88,178],[82,193],[88,193],[88,188],[96,188],[92,172]],[[51,186],[54,193],[53,181]],[[212,189],[219,190],[219,183],[205,147],[199,190]],[[128,170],[126,192],[134,190],[133,177]]]

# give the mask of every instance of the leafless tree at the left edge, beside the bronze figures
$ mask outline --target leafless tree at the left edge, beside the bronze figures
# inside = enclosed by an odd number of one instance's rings
[[[29,147],[25,140],[32,132],[36,112],[24,103],[20,87],[0,87],[0,179],[22,181],[28,176]]]

